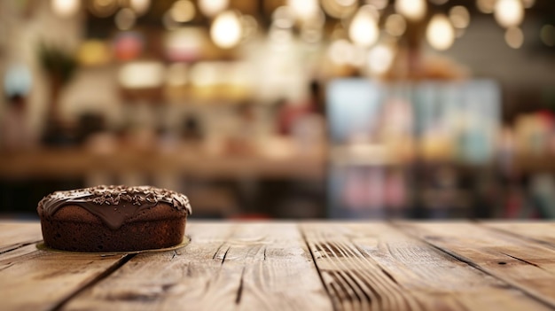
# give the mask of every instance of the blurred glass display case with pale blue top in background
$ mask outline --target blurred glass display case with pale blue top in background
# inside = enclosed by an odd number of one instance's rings
[[[489,80],[327,88],[332,218],[488,217],[501,92]]]

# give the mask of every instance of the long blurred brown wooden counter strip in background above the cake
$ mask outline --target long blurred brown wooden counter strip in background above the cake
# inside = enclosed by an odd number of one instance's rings
[[[99,154],[84,148],[0,153],[0,178],[83,177],[91,173],[173,174],[207,178],[324,178],[324,154],[269,157],[207,152],[183,144],[171,151],[118,148]]]

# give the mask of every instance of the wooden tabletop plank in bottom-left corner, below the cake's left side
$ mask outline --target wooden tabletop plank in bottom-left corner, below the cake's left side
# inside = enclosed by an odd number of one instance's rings
[[[122,256],[43,251],[35,244],[1,254],[1,308],[49,310],[117,267],[121,260]]]

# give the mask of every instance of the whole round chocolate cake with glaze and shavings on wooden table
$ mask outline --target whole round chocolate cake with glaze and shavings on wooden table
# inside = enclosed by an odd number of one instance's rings
[[[150,186],[56,191],[36,208],[44,244],[77,252],[129,252],[179,245],[189,199]]]

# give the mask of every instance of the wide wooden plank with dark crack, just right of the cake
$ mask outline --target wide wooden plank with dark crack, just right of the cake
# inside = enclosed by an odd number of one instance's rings
[[[293,223],[192,222],[176,253],[140,254],[67,309],[332,309]]]

